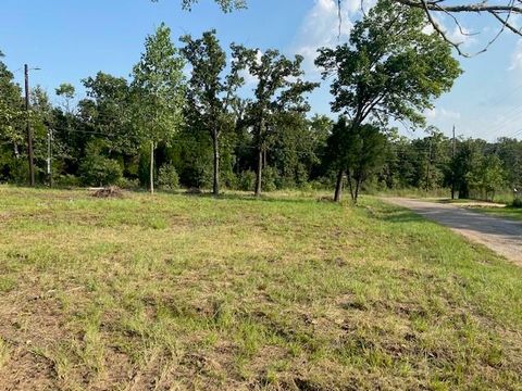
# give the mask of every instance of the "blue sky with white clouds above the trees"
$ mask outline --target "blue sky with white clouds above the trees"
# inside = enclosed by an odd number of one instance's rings
[[[0,50],[12,71],[24,63],[38,66],[32,85],[39,84],[53,93],[63,81],[80,85],[80,79],[98,71],[128,76],[139,60],[147,34],[165,22],[173,39],[181,35],[199,36],[217,30],[224,46],[235,41],[248,47],[277,48],[285,54],[301,53],[310,79],[318,79],[313,53],[318,47],[338,42],[334,0],[249,0],[248,10],[223,14],[210,0],[201,0],[192,12],[182,11],[179,0],[2,0],[0,4]],[[360,16],[359,0],[345,0],[346,39],[351,22]],[[465,16],[470,31],[462,37],[448,18],[440,17],[448,34],[464,40],[463,49],[480,50],[498,25],[493,18]],[[518,21],[514,21],[517,23]],[[451,92],[436,101],[427,121],[450,135],[494,140],[522,129],[522,43],[505,34],[486,53],[460,58],[464,74]],[[21,80],[23,74],[15,76]],[[311,96],[314,112],[330,113],[326,84]],[[422,130],[412,137],[421,136]],[[518,134],[522,138],[522,131]]]

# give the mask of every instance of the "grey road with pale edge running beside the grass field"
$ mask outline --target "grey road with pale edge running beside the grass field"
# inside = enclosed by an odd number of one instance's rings
[[[385,202],[407,207],[482,243],[522,266],[522,223],[472,212],[453,204],[385,198]]]

